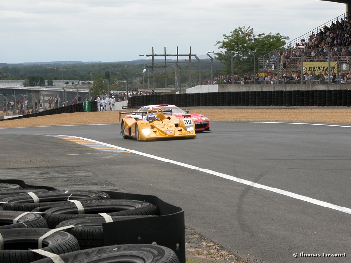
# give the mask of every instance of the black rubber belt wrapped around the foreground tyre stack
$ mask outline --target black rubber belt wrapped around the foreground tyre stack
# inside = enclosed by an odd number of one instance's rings
[[[23,180],[7,179],[0,183],[17,184],[22,188],[57,190],[49,186],[32,186]],[[104,191],[111,199],[149,202],[158,208],[159,216],[135,218],[102,224],[105,246],[119,244],[157,244],[172,249],[180,263],[185,263],[184,210],[156,196]]]

